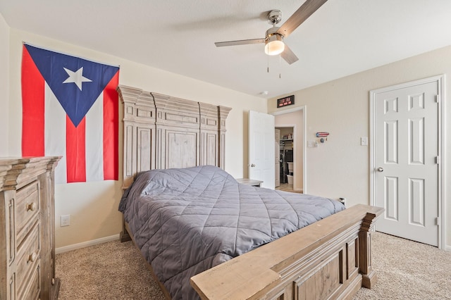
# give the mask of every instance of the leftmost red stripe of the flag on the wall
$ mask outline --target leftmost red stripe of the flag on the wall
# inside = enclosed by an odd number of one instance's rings
[[[44,156],[44,78],[22,50],[22,156]]]

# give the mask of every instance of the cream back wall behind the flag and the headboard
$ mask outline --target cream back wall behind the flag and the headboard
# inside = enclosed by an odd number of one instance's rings
[[[1,26],[1,25],[0,25]],[[115,56],[58,42],[20,30],[10,32],[10,102],[9,154],[20,156],[22,107],[20,65],[23,42],[53,51],[80,56],[93,61],[121,65],[121,85],[139,87],[175,97],[232,107],[226,122],[226,170],[235,177],[247,173],[247,111],[266,113],[266,99],[249,96],[230,89],[175,75]],[[3,40],[3,39],[2,39]],[[118,41],[120,42],[120,41]],[[122,137],[122,131],[121,131]],[[120,140],[120,144],[122,139]],[[120,151],[120,165],[122,149]],[[246,154],[246,156],[244,155]],[[122,168],[119,170],[121,177]],[[56,185],[56,247],[88,242],[117,235],[121,231],[121,182],[104,181]],[[70,226],[60,227],[59,216],[70,215]]]

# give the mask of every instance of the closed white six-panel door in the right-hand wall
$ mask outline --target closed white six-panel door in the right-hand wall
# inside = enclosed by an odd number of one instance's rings
[[[438,81],[372,94],[376,230],[438,246]]]

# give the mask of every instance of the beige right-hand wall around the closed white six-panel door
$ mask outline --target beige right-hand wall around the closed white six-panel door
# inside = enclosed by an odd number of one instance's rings
[[[344,67],[345,68],[345,67]],[[369,204],[369,91],[381,87],[445,74],[447,95],[451,93],[451,46],[326,82],[268,101],[268,113],[276,111],[276,99],[295,94],[296,106],[307,106],[307,141],[315,132],[328,131],[328,142],[307,147],[307,192],[338,199],[347,205]],[[450,96],[445,95],[447,124],[451,124]],[[291,107],[290,107],[291,108]],[[450,125],[447,125],[447,130]],[[449,136],[449,135],[448,135]],[[451,160],[451,139],[447,139],[446,161]],[[449,165],[449,163],[447,163]],[[451,245],[451,168],[447,168],[447,245]]]

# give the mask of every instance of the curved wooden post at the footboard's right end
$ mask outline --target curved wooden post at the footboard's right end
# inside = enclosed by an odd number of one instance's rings
[[[362,274],[362,287],[371,289],[376,284],[376,273],[371,263],[371,232],[374,231],[376,215],[366,213],[359,231],[359,272]]]

